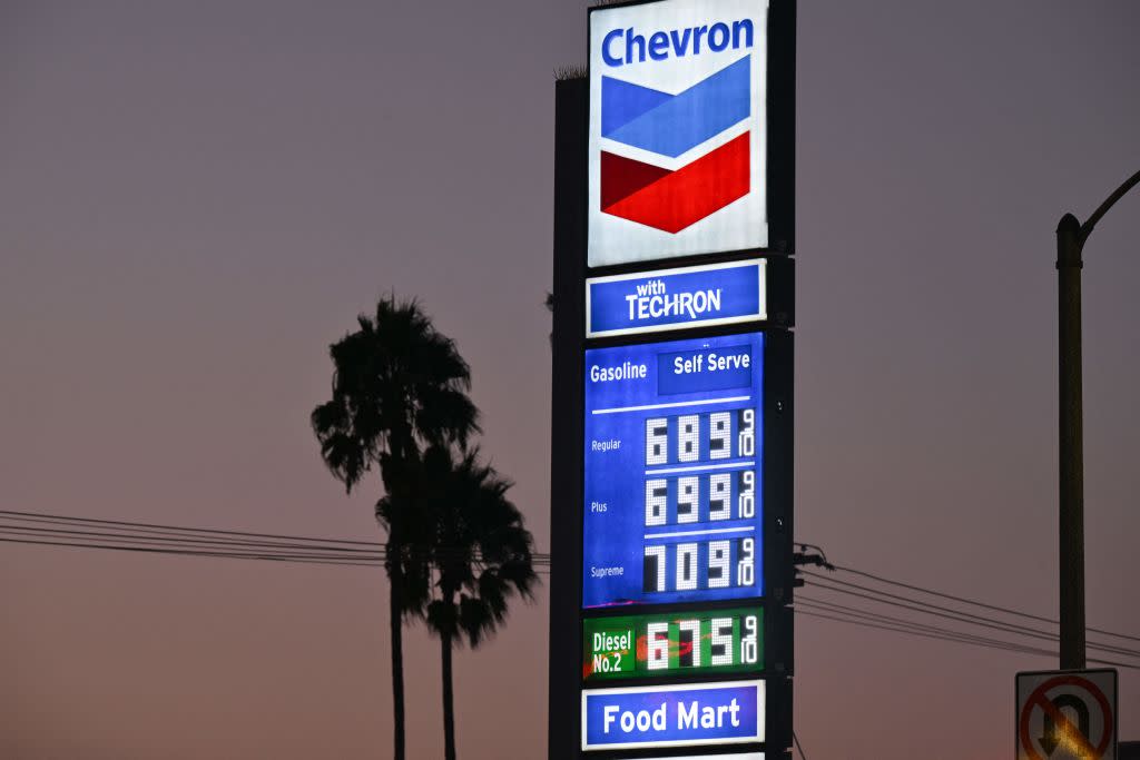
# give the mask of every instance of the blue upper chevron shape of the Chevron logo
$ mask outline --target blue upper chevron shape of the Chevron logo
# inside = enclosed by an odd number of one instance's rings
[[[602,76],[602,137],[676,158],[751,113],[751,56],[668,95]]]

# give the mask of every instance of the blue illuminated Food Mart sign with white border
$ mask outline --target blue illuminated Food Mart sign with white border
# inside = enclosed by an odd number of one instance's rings
[[[764,681],[586,689],[581,749],[764,741]]]

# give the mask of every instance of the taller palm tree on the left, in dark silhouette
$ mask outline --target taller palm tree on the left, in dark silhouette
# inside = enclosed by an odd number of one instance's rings
[[[407,549],[414,524],[408,463],[431,446],[458,443],[479,430],[467,398],[471,373],[455,343],[435,330],[415,301],[381,299],[375,316],[357,318],[359,329],[329,346],[332,399],[312,410],[310,422],[320,456],[345,491],[378,466],[389,508],[385,570],[390,580],[394,758],[404,760],[405,616],[423,613],[425,574]],[[378,514],[378,510],[377,510]],[[423,588],[421,588],[423,586]]]

